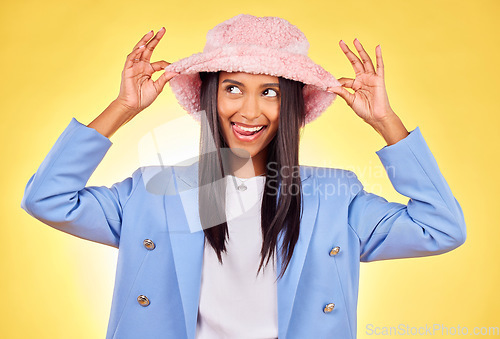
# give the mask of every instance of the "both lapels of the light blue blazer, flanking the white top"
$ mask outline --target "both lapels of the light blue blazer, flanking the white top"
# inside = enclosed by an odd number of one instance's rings
[[[171,238],[179,291],[184,307],[188,338],[194,339],[200,296],[201,271],[205,244],[198,211],[198,163],[171,168],[175,176],[177,195],[165,195],[165,212]],[[283,277],[278,280],[278,327],[279,337],[286,338],[290,317],[297,293],[302,267],[311,240],[318,210],[318,195],[310,167],[300,167],[303,183],[303,214],[300,235],[293,256]],[[305,184],[307,182],[307,184]],[[181,204],[181,205],[180,205]],[[184,211],[184,213],[180,213]],[[276,251],[282,246],[278,238]],[[276,252],[279,253],[279,252]],[[278,255],[277,273],[282,262]]]

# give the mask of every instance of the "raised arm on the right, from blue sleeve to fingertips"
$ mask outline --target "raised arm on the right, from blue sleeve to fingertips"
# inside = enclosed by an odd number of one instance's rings
[[[441,174],[420,129],[411,133],[392,110],[384,80],[380,45],[377,68],[355,39],[358,58],[340,41],[355,78],[340,78],[342,86],[328,90],[372,126],[387,142],[377,152],[394,188],[408,204],[391,203],[366,192],[355,175],[349,205],[349,225],[359,237],[361,261],[440,254],[460,246],[466,238],[462,209]],[[349,92],[346,88],[353,90]]]

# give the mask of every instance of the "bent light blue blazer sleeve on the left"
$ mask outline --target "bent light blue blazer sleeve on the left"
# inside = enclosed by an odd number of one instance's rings
[[[118,247],[122,211],[141,171],[107,187],[85,187],[111,141],[76,119],[29,179],[21,207],[61,231]]]

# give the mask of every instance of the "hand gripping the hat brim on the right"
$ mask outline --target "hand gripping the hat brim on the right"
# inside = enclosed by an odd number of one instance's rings
[[[377,58],[375,71],[370,57],[358,39],[354,40],[354,46],[362,61],[351,52],[343,40],[339,44],[351,62],[356,77],[354,79],[340,78],[338,81],[342,86],[329,87],[327,90],[342,97],[359,117],[372,126],[394,114],[385,89],[384,63],[380,45],[375,48]],[[354,90],[354,93],[350,93],[344,87]]]

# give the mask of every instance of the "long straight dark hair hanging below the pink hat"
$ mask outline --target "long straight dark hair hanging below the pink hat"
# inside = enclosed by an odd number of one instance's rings
[[[228,237],[225,221],[226,186],[222,152],[228,150],[219,125],[217,90],[219,72],[201,72],[200,107],[202,111],[200,161],[198,167],[199,213],[205,238],[222,263]],[[299,238],[302,216],[302,185],[299,171],[299,140],[304,126],[303,83],[279,77],[281,93],[279,125],[268,145],[266,184],[262,199],[262,248],[260,269],[275,254],[278,236],[283,276]],[[206,117],[206,119],[205,119]],[[277,194],[279,192],[279,194]],[[280,235],[281,234],[281,235]],[[265,263],[264,263],[265,262]]]

